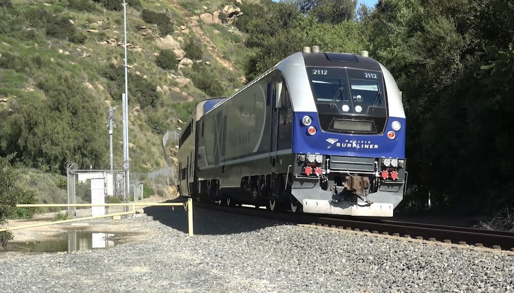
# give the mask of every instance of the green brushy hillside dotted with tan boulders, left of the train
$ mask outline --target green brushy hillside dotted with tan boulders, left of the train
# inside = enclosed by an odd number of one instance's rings
[[[238,3],[204,5],[127,6],[133,172],[166,167],[162,135],[180,129],[196,101],[230,95],[245,82],[245,35],[231,25],[242,15]],[[121,104],[123,64],[119,1],[0,0],[0,156],[16,152],[24,166],[54,172],[67,160],[108,168],[105,120]],[[119,162],[121,108],[114,131]]]

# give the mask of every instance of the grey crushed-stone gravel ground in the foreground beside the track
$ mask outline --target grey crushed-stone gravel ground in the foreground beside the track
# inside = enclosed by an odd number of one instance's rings
[[[77,254],[0,253],[0,292],[514,292],[511,255],[200,208],[190,238],[185,212],[164,211],[145,208],[149,216],[122,220],[132,231],[157,231],[141,243]]]

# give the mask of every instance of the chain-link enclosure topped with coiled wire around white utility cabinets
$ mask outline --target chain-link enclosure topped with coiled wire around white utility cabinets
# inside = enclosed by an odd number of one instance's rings
[[[76,170],[76,168],[77,165],[74,163],[66,164],[68,204],[128,203],[125,188],[126,170]],[[79,218],[126,211],[128,207],[122,206],[69,207],[68,215]]]

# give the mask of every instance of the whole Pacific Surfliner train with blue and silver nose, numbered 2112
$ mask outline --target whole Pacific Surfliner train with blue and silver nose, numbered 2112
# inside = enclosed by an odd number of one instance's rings
[[[177,188],[219,205],[391,217],[407,184],[405,134],[386,67],[366,51],[304,47],[196,105],[179,138]]]

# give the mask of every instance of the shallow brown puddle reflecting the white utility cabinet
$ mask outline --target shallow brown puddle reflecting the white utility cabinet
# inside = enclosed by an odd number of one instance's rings
[[[28,248],[32,252],[79,251],[116,246],[119,240],[109,240],[114,236],[111,233],[67,232],[58,235],[58,240],[13,244]]]

